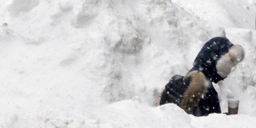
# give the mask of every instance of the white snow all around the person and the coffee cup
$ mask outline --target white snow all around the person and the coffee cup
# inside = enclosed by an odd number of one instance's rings
[[[0,0],[0,127],[255,128],[255,18],[256,0]],[[216,36],[246,52],[214,84],[238,115],[154,107]]]

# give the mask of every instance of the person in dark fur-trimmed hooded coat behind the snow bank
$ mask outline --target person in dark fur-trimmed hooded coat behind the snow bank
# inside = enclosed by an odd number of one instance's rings
[[[210,39],[196,56],[189,73],[174,75],[166,84],[157,97],[157,106],[174,103],[194,116],[221,113],[218,93],[212,82],[225,79],[244,55],[242,46],[232,44],[227,38]]]

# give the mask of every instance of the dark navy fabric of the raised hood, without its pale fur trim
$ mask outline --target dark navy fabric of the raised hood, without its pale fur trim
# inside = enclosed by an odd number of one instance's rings
[[[217,73],[216,64],[220,58],[228,53],[233,44],[223,37],[212,38],[203,45],[196,59],[194,60],[191,71],[201,71],[205,77],[208,77],[212,82],[217,83],[226,77],[221,77]]]

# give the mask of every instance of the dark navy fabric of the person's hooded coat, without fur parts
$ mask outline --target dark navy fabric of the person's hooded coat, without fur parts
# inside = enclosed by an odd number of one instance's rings
[[[227,38],[212,38],[203,45],[203,48],[196,56],[193,64],[194,67],[190,69],[189,72],[201,71],[206,79],[210,81],[210,86],[207,89],[205,97],[201,99],[198,106],[194,108],[194,116],[206,116],[210,113],[221,113],[218,93],[214,89],[212,82],[217,83],[225,79],[218,75],[216,71],[216,63],[232,46],[233,44]],[[179,106],[182,95],[188,88],[189,80],[189,77],[182,77],[179,75],[172,77],[161,94],[160,105],[174,103]],[[181,83],[184,84],[181,86]]]

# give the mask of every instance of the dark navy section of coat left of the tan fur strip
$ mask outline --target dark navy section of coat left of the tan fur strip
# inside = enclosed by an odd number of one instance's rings
[[[181,98],[189,86],[190,79],[191,77],[174,75],[165,86],[165,90],[161,95],[160,105],[174,103],[180,106]]]

